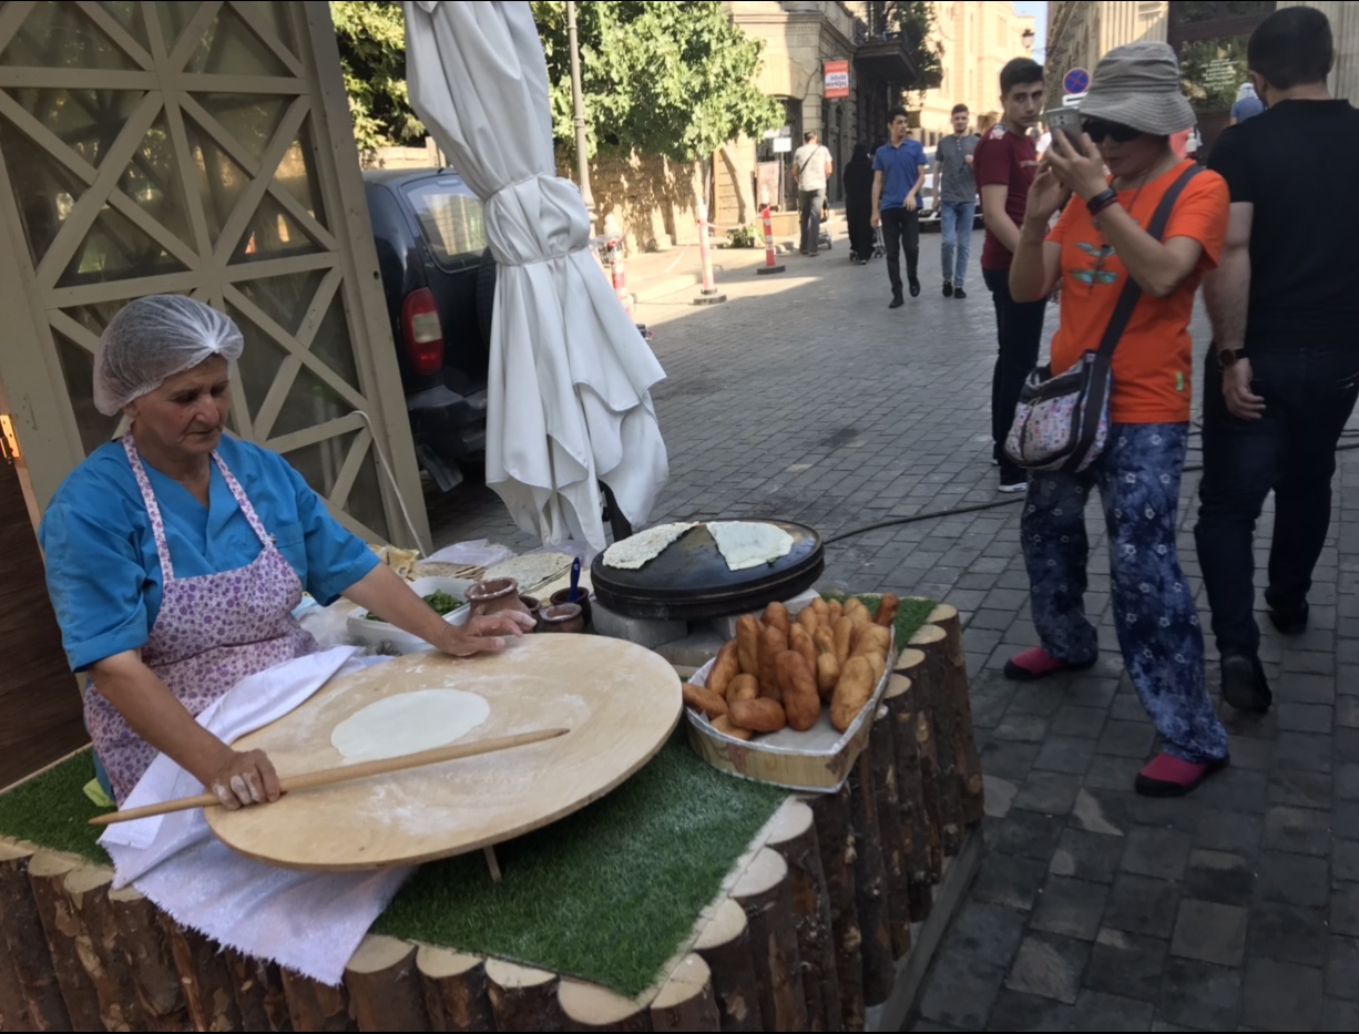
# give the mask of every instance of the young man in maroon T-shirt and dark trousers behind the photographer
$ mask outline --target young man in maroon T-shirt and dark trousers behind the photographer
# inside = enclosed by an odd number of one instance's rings
[[[1042,114],[1042,65],[1017,57],[1002,68],[1000,105],[1000,121],[977,144],[972,171],[981,189],[981,211],[987,220],[981,277],[996,306],[1000,345],[991,380],[992,458],[1000,466],[1000,491],[1023,492],[1027,476],[1006,457],[1004,444],[1019,390],[1038,364],[1048,300],[1017,303],[1010,298],[1010,260],[1019,242],[1029,185],[1038,168],[1038,151],[1029,130]]]

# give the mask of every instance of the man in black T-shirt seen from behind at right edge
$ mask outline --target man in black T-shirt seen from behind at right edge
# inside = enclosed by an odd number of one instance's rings
[[[1359,394],[1359,111],[1326,91],[1335,43],[1316,8],[1269,15],[1248,63],[1267,110],[1223,132],[1208,162],[1231,190],[1231,221],[1204,280],[1214,348],[1195,537],[1223,698],[1264,711],[1256,519],[1272,488],[1265,602],[1275,628],[1301,633],[1330,524],[1336,443]],[[1307,170],[1302,186],[1298,168]]]

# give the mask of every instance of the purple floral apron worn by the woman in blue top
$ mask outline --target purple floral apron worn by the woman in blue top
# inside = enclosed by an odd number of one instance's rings
[[[151,518],[164,580],[160,611],[141,648],[141,660],[189,713],[197,717],[247,675],[315,652],[317,641],[292,617],[302,602],[302,583],[222,457],[213,452],[212,461],[264,550],[235,571],[177,579],[160,507],[130,435],[124,436],[122,447]],[[132,731],[92,683],[86,690],[84,709],[90,739],[121,804],[155,760],[156,749]]]

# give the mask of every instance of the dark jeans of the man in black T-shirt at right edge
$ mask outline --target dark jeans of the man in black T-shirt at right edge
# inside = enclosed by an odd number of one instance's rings
[[[1195,539],[1219,652],[1256,656],[1256,519],[1273,489],[1265,602],[1296,610],[1307,599],[1330,527],[1336,443],[1359,395],[1359,345],[1254,349],[1250,367],[1265,410],[1260,420],[1239,420],[1222,398],[1222,370],[1208,349]]]

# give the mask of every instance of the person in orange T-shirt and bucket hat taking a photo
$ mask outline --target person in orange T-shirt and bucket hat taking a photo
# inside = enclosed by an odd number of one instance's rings
[[[1089,667],[1099,654],[1084,611],[1084,511],[1098,488],[1118,647],[1162,741],[1133,788],[1180,796],[1227,764],[1199,611],[1176,552],[1189,443],[1189,319],[1227,231],[1227,185],[1170,148],[1170,135],[1193,125],[1195,114],[1167,43],[1110,50],[1079,109],[1084,132],[1053,130],[1029,192],[1008,288],[1025,304],[1063,281],[1053,372],[1080,364],[1110,327],[1117,334],[1109,433],[1079,473],[1030,474],[1021,541],[1041,645],[1012,658],[1006,675],[1029,681]],[[1162,220],[1161,232],[1148,232]]]

